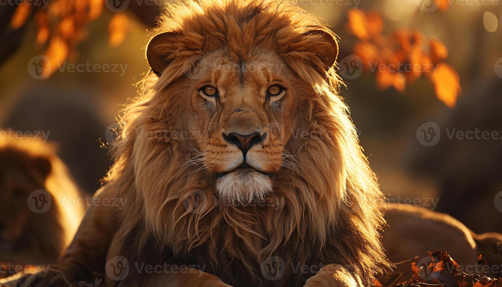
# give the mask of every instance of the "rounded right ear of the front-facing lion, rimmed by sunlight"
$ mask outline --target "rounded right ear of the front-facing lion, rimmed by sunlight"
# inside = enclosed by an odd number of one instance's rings
[[[326,70],[331,68],[338,56],[338,41],[335,34],[318,27],[312,27],[312,30],[307,31],[305,34],[320,38],[321,44],[317,45],[316,50],[312,52],[324,63]]]

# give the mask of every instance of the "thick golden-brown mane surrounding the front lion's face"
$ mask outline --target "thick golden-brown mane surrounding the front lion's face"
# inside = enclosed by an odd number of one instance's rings
[[[288,1],[170,6],[152,32],[176,33],[172,42],[157,48],[167,68],[160,78],[147,76],[140,96],[123,111],[112,149],[115,163],[106,178],[120,197],[135,203],[119,213],[121,255],[130,262],[155,262],[173,252],[207,264],[205,271],[239,286],[296,286],[312,275],[287,269],[281,280],[269,281],[260,263],[270,256],[287,264],[343,264],[364,285],[377,267],[388,266],[378,233],[383,196],[338,95],[340,80],[319,57],[329,44],[310,35],[312,27],[329,31]],[[218,197],[212,172],[221,170],[212,164],[227,157],[218,159],[214,148],[213,157],[204,154],[202,161],[185,164],[194,150],[208,152],[200,138],[207,139],[212,124],[198,118],[202,108],[189,89],[196,80],[184,72],[204,56],[215,57],[206,59],[209,65],[224,59],[238,66],[256,61],[260,51],[283,61],[285,78],[293,79],[289,108],[274,122],[285,144],[270,157],[288,153],[295,166],[287,168],[283,161],[272,168],[267,207],[205,200],[198,212],[190,212],[186,203],[194,204],[195,192],[202,190],[205,199]],[[266,64],[271,67],[274,61]],[[198,134],[180,136],[183,131]]]

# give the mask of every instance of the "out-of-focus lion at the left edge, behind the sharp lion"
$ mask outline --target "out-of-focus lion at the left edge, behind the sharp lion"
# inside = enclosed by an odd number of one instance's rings
[[[78,195],[78,188],[51,144],[1,137],[0,262],[56,262],[84,214],[83,207],[59,205],[57,198]],[[51,201],[44,207],[37,201],[46,196]],[[37,210],[37,206],[41,209]]]

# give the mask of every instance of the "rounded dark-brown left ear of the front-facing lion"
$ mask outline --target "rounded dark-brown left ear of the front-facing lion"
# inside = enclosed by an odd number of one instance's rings
[[[147,60],[152,71],[160,76],[162,71],[172,62],[169,57],[175,51],[173,38],[175,32],[165,32],[155,35],[147,46]]]

